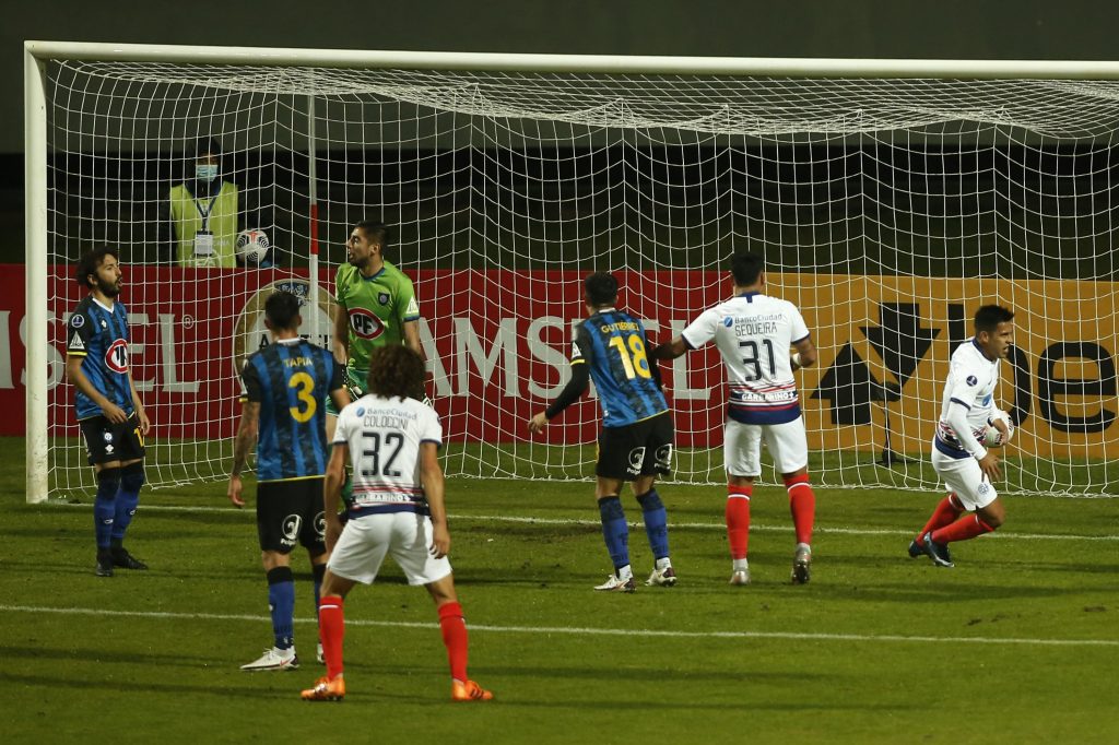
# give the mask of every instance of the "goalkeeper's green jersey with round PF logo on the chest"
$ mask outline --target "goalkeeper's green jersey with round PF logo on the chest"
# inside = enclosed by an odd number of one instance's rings
[[[349,314],[349,367],[361,371],[364,381],[373,350],[403,343],[404,324],[420,320],[412,280],[388,262],[370,277],[342,264],[335,279],[335,296]]]

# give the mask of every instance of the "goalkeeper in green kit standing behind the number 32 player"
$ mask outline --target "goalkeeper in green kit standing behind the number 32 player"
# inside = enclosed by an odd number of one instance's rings
[[[420,343],[420,304],[412,280],[385,261],[388,226],[361,220],[346,241],[346,263],[338,267],[335,298],[338,313],[330,349],[346,370],[350,399],[366,393],[369,356],[377,347],[399,345],[426,359]],[[338,412],[327,402],[327,442],[333,442]],[[349,480],[344,497],[349,497]]]

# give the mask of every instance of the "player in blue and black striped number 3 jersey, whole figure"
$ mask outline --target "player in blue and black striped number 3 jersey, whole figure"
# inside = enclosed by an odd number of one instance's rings
[[[322,482],[327,470],[327,399],[349,404],[333,356],[299,336],[299,299],[274,292],[264,303],[273,343],[250,355],[241,377],[244,408],[233,446],[227,496],[237,507],[241,471],[256,442],[256,532],[269,583],[275,643],[242,670],[291,670],[295,657],[295,583],[291,550],[301,544],[311,559],[314,606],[327,568]]]

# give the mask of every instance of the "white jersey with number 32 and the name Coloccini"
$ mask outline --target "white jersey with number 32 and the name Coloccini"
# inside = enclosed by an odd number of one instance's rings
[[[420,444],[441,445],[433,408],[414,398],[361,396],[338,414],[335,443],[349,446],[354,465],[350,517],[384,512],[427,513],[420,480]]]

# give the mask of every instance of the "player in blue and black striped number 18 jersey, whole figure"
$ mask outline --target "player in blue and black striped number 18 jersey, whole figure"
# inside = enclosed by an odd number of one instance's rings
[[[583,299],[587,319],[575,329],[571,352],[571,380],[560,396],[529,423],[542,432],[548,419],[577,400],[594,380],[602,406],[595,497],[602,536],[614,565],[601,591],[631,593],[636,588],[629,559],[629,527],[622,509],[622,484],[632,482],[645,519],[656,565],[645,584],[671,587],[676,572],[668,556],[668,515],[653,488],[673,460],[673,417],[660,389],[660,376],[646,355],[645,327],[618,310],[618,280],[606,272],[586,277]]]

